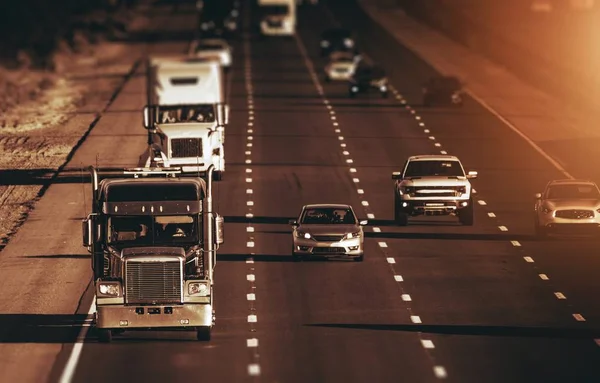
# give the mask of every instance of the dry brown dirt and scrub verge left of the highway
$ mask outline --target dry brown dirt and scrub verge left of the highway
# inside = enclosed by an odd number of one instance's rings
[[[44,190],[8,171],[62,166],[125,80],[136,50],[84,42],[77,53],[55,54],[55,72],[0,68],[0,250]]]

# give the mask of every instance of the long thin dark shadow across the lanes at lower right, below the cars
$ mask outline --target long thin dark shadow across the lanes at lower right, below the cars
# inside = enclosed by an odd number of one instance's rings
[[[306,324],[305,326],[369,331],[422,332],[426,334],[439,335],[471,335],[521,338],[590,339],[598,338],[600,336],[599,329],[572,327],[354,323],[314,323]]]

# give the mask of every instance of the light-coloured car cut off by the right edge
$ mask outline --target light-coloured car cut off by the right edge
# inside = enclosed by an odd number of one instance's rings
[[[593,181],[550,181],[535,198],[535,231],[539,237],[600,232],[600,190]]]

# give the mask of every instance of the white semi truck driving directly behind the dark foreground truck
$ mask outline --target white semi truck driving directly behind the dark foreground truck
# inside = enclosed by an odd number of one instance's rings
[[[229,107],[219,61],[189,56],[151,58],[147,81],[144,127],[149,150],[140,165],[178,166],[199,173],[214,165],[214,180],[221,180]]]

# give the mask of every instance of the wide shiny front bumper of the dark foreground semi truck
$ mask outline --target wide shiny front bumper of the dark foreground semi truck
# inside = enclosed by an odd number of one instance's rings
[[[105,329],[131,328],[185,328],[212,326],[212,305],[186,303],[184,305],[97,307],[96,327]]]

